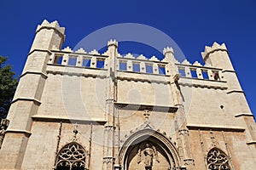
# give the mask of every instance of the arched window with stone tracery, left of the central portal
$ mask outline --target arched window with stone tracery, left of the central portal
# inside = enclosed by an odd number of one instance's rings
[[[58,153],[56,170],[84,170],[86,152],[80,144],[66,144]]]

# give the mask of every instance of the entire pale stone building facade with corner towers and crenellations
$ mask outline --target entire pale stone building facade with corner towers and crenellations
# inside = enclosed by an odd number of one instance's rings
[[[256,127],[224,44],[198,62],[61,49],[38,26],[7,120],[0,169],[253,170]]]

